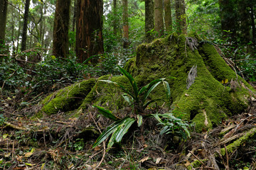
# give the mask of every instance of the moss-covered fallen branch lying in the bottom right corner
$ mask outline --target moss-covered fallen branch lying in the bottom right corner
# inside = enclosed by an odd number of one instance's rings
[[[220,149],[220,154],[225,155],[226,152],[232,153],[235,149],[238,149],[243,143],[245,143],[248,139],[252,138],[256,134],[256,128],[252,128],[248,132],[245,133],[245,135],[242,135],[238,140],[235,140],[235,142],[231,143],[226,147],[227,151],[225,148]]]

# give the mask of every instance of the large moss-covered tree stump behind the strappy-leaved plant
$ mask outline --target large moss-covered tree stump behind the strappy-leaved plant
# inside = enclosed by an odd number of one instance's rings
[[[154,79],[176,77],[177,79],[169,80],[171,108],[176,115],[183,115],[183,119],[192,120],[198,132],[213,128],[229,115],[245,111],[250,95],[254,93],[252,87],[228,67],[214,45],[201,40],[197,35],[186,37],[173,34],[149,44],[139,45],[137,57],[129,60],[124,69],[127,69],[141,86]],[[100,79],[110,78],[105,76]],[[111,80],[129,87],[125,77],[112,77]],[[97,84],[98,91],[109,89],[110,96],[118,94],[117,91],[111,90],[114,88],[116,87],[102,82]],[[76,112],[86,109],[86,106],[92,103],[110,106],[106,103],[110,102],[111,97],[97,94],[95,81],[91,86],[87,86],[87,91],[90,92],[86,93],[82,104],[73,108]],[[61,95],[55,97],[61,98]],[[164,88],[159,86],[150,97],[165,100]],[[70,106],[67,100],[63,103]],[[50,104],[48,102],[43,106],[43,111],[53,108]],[[121,98],[115,103],[118,108],[122,108],[122,104],[124,101]],[[56,106],[54,108],[62,109]]]

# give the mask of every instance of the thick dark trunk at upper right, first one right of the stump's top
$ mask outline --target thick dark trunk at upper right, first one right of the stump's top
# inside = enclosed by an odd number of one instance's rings
[[[231,0],[219,0],[220,23],[223,38],[228,37],[230,40],[236,40],[237,17],[234,5]]]

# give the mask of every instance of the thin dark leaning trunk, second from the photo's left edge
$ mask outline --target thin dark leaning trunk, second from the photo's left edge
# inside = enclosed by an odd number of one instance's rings
[[[22,30],[22,39],[21,39],[21,51],[26,50],[29,4],[30,4],[30,0],[26,0],[25,12],[24,12],[24,16],[23,16],[23,30]]]

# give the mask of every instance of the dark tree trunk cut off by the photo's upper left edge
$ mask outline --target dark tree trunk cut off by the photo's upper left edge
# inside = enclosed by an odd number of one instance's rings
[[[0,49],[4,46],[7,16],[7,0],[0,0]]]

